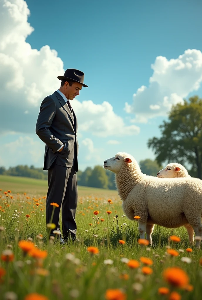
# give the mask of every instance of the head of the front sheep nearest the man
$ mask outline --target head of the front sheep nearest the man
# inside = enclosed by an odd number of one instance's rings
[[[113,173],[119,173],[123,164],[131,164],[132,157],[131,155],[123,152],[117,153],[114,157],[104,161],[104,168],[110,170]]]

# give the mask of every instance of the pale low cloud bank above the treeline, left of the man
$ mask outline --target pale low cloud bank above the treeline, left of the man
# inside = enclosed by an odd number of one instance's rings
[[[0,146],[0,164],[5,167],[16,166],[17,164],[43,164],[44,144],[35,141],[32,137],[19,137],[14,142]]]

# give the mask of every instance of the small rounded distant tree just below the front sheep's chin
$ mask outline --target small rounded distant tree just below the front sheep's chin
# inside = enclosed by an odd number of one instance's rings
[[[108,188],[108,177],[105,169],[101,166],[95,166],[88,178],[88,186]]]

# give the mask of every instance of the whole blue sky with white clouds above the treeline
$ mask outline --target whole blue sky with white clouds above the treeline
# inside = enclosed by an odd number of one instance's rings
[[[117,152],[155,159],[148,139],[173,104],[202,97],[200,0],[0,0],[0,166],[43,167],[42,100],[68,68],[85,73],[71,102],[79,169]]]

